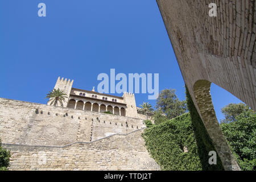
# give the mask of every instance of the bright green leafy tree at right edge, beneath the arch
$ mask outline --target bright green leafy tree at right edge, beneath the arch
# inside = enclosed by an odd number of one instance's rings
[[[242,170],[256,170],[256,113],[243,111],[234,122],[221,123],[221,130]]]

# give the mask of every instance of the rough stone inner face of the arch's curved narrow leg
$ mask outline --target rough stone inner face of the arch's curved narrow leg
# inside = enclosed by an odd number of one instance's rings
[[[221,162],[226,170],[239,169],[226,138],[224,137],[218,123],[212,97],[210,96],[210,84],[207,80],[198,80],[193,86],[197,109],[207,129],[209,137],[213,140],[214,147],[220,156]]]

